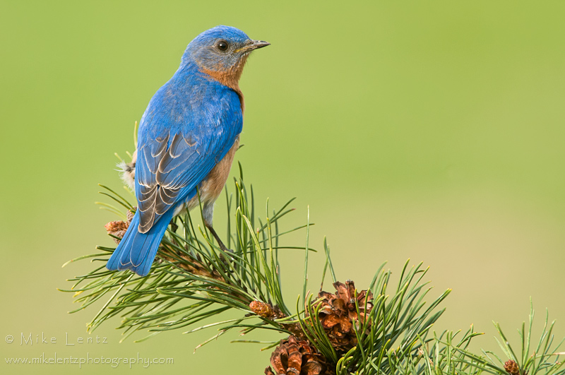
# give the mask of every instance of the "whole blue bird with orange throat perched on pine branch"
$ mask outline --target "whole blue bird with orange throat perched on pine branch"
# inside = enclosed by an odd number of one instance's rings
[[[106,267],[148,275],[169,222],[203,206],[212,226],[214,202],[230,173],[243,126],[239,78],[249,54],[268,42],[217,26],[186,47],[179,69],[151,98],[139,124],[134,177],[138,208]],[[134,172],[134,174],[133,174]],[[200,199],[198,199],[198,194]]]

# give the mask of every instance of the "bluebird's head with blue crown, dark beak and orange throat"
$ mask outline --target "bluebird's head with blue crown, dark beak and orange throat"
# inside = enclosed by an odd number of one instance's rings
[[[249,54],[270,43],[252,40],[230,26],[216,26],[194,38],[182,56],[182,63],[194,61],[198,68],[228,86],[237,85]]]

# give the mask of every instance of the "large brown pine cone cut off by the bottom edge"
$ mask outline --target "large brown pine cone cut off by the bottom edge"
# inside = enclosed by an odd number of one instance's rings
[[[270,364],[278,375],[331,375],[326,370],[326,358],[306,340],[299,340],[290,336],[287,340],[280,340],[270,355]],[[273,369],[267,367],[266,375],[275,375]]]

